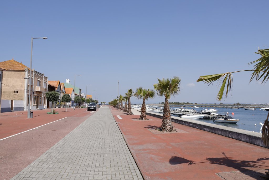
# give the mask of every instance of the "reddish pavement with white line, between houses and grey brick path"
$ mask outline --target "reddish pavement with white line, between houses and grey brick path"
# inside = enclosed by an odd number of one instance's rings
[[[55,110],[59,114],[47,114],[48,109],[33,111],[34,118],[30,119],[27,111],[0,114],[0,139],[64,118],[0,141],[0,179],[15,176],[94,113],[86,109]]]

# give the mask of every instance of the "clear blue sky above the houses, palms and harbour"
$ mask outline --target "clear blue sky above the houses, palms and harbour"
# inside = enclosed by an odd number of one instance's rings
[[[14,60],[49,80],[70,79],[82,92],[111,101],[137,87],[179,76],[170,101],[220,103],[218,86],[201,75],[252,69],[269,49],[269,1],[2,1],[0,61]],[[232,97],[222,103],[269,103],[268,83],[233,74]],[[97,94],[98,93],[98,94]],[[159,103],[156,97],[146,103]],[[132,103],[141,103],[134,97]]]

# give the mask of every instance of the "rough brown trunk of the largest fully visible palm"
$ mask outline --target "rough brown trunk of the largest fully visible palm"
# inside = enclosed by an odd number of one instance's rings
[[[166,131],[166,132],[176,131],[174,129],[174,126],[172,125],[171,113],[170,113],[170,108],[169,108],[169,101],[167,98],[165,98],[165,102],[164,102],[164,113],[163,113],[161,130],[162,130],[162,132],[164,132],[164,131]]]

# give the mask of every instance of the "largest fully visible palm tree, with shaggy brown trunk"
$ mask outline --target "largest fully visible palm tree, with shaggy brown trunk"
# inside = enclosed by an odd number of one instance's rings
[[[159,83],[154,84],[154,89],[157,91],[159,97],[165,98],[164,101],[164,113],[163,120],[161,125],[162,131],[175,131],[174,126],[171,121],[171,112],[169,108],[169,99],[171,96],[176,96],[180,93],[180,81],[181,79],[178,76],[171,77],[170,80],[163,78],[162,80],[158,79]]]

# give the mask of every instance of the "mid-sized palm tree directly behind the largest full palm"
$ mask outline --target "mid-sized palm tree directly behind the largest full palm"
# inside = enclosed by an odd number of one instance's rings
[[[136,92],[134,96],[137,99],[143,99],[142,107],[141,107],[141,115],[140,120],[147,120],[147,109],[146,109],[146,100],[153,99],[155,97],[155,92],[152,89],[143,89],[143,87],[136,88]]]

